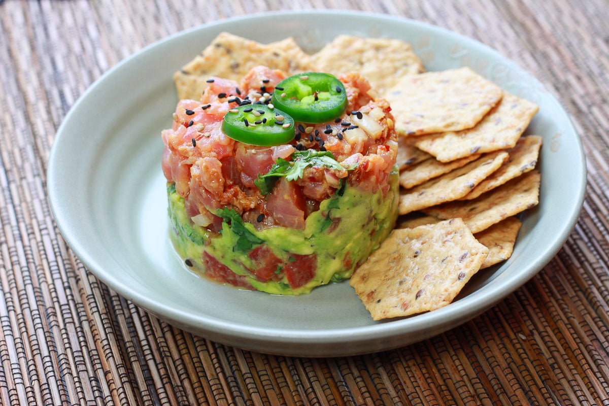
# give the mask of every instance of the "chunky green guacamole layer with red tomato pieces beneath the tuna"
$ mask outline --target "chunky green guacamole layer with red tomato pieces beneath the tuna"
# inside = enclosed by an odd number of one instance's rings
[[[302,295],[350,278],[389,235],[398,215],[395,170],[389,183],[384,196],[343,184],[307,217],[304,229],[257,230],[236,212],[224,210],[219,212],[220,233],[194,225],[175,184],[168,183],[171,240],[186,265],[209,279],[277,295]]]

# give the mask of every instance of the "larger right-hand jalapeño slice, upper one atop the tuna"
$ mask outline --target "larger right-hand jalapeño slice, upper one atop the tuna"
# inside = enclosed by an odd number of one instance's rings
[[[275,86],[272,103],[295,121],[320,123],[342,116],[347,108],[347,92],[331,74],[306,72],[287,77]]]

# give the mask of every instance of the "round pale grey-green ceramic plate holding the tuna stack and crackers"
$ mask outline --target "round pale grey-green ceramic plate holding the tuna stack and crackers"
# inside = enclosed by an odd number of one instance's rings
[[[273,24],[272,30],[261,25]],[[528,133],[542,135],[540,205],[524,216],[512,257],[474,277],[449,306],[373,321],[347,282],[311,295],[272,296],[206,281],[167,239],[161,130],[177,102],[172,74],[228,31],[268,43],[293,36],[309,52],[339,34],[406,40],[430,71],[467,65],[540,106]],[[301,356],[362,354],[408,345],[470,320],[537,273],[571,232],[583,201],[585,161],[565,110],[516,63],[428,24],[358,12],[280,12],[207,24],[159,41],[104,74],[59,128],[48,169],[55,220],[101,281],[194,334],[253,351]]]

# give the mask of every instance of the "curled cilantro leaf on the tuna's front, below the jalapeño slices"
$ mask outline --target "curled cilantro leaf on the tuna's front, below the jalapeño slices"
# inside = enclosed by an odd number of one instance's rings
[[[336,170],[352,170],[356,167],[356,165],[348,168],[343,167],[329,151],[295,151],[292,153],[291,161],[279,158],[269,172],[264,175],[258,174],[254,184],[258,186],[263,195],[267,195],[272,191],[279,178],[284,177],[288,181],[294,181],[303,177],[306,168],[322,166]]]

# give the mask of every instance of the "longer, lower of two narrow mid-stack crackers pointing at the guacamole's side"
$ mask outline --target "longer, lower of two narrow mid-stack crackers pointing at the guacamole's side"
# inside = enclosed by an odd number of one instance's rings
[[[493,152],[459,169],[446,173],[446,175],[432,179],[412,189],[400,191],[398,212],[406,214],[411,211],[439,205],[446,201],[457,200],[465,196],[477,184],[481,183],[484,178],[497,170],[507,159],[507,156],[507,152]],[[443,219],[446,219],[446,217],[443,217]]]

